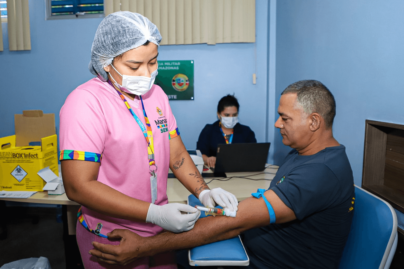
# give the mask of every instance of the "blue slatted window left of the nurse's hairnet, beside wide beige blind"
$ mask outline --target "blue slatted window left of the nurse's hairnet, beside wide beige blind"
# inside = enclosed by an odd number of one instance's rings
[[[103,0],[52,0],[52,16],[104,13]]]

